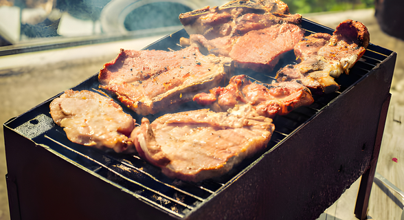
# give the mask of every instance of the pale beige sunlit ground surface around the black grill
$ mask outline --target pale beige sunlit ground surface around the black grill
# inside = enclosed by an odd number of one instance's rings
[[[377,172],[404,189],[404,43],[381,32],[374,10],[355,10],[327,14],[306,14],[304,17],[335,28],[345,19],[364,23],[370,32],[370,42],[398,53],[392,83],[392,101],[385,126]],[[69,89],[96,74],[104,63],[111,61],[120,48],[139,50],[159,39],[156,36],[137,41],[122,41],[102,45],[88,45],[0,57],[0,123],[15,117],[44,100]],[[393,161],[397,158],[397,162]],[[8,197],[5,185],[3,127],[0,128],[0,220],[10,219]],[[320,219],[355,219],[355,204],[358,182]],[[369,218],[399,219],[401,208],[373,186],[370,198]]]

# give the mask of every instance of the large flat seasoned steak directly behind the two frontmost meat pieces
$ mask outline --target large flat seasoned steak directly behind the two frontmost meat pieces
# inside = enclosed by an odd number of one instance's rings
[[[198,47],[175,52],[121,50],[106,63],[98,79],[138,114],[175,109],[201,92],[216,87],[231,67],[230,58],[203,56]]]

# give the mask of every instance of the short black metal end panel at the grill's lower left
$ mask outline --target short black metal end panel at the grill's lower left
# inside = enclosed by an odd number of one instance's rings
[[[7,126],[4,136],[8,178],[19,195],[11,198],[19,201],[21,219],[176,219]]]

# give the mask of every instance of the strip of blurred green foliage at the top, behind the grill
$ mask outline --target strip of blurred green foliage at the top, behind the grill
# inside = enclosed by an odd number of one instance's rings
[[[313,13],[359,8],[373,8],[374,0],[282,0],[289,5],[291,13]]]

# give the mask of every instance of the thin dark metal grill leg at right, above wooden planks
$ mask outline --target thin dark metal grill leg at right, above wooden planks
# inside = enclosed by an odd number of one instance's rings
[[[365,220],[368,215],[370,191],[372,190],[374,173],[376,173],[377,159],[379,159],[381,139],[383,137],[385,120],[387,118],[391,96],[392,94],[388,94],[388,97],[385,99],[381,107],[379,124],[377,127],[377,135],[374,142],[373,155],[372,159],[370,160],[370,167],[368,168],[368,170],[365,171],[365,173],[363,173],[361,183],[359,184],[357,203],[355,205],[355,217],[361,220]]]

